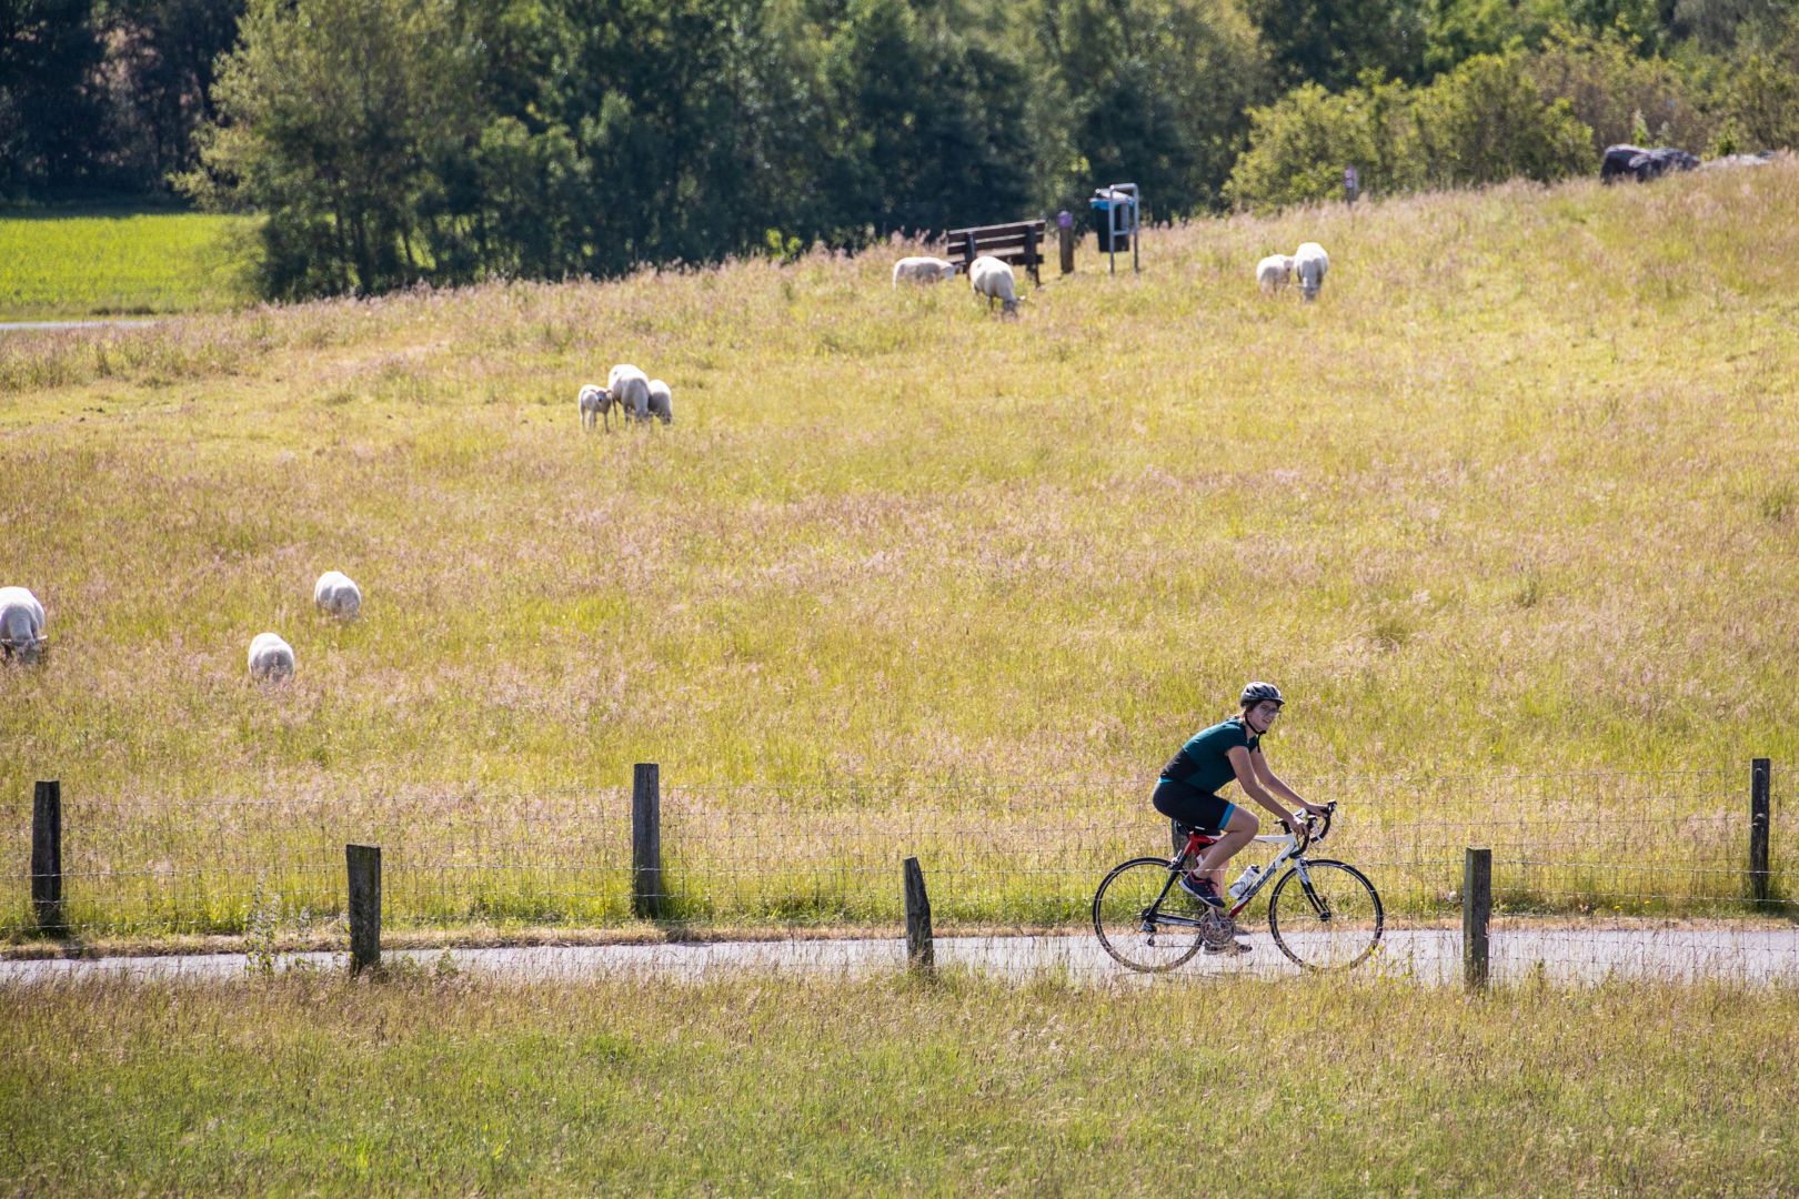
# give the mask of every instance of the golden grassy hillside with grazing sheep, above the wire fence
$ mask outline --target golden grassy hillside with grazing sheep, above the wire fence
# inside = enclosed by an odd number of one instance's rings
[[[891,246],[7,334],[0,795],[1150,780],[1249,678],[1295,777],[1792,762],[1795,210],[1783,160],[1202,221],[1016,322]],[[1320,302],[1261,297],[1304,239]],[[673,426],[581,433],[615,361]]]

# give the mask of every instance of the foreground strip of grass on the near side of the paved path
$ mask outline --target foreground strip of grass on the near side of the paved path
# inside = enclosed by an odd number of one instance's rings
[[[20,1194],[1794,1195],[1792,990],[0,992]]]

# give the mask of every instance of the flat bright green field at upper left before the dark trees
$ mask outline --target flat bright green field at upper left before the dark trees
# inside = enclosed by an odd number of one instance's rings
[[[250,298],[250,218],[0,216],[0,320],[218,311]]]

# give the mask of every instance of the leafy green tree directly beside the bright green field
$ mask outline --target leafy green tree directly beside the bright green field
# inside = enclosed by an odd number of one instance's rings
[[[250,0],[182,187],[264,223],[268,295],[434,275],[425,214],[466,153],[480,59],[428,0]]]

